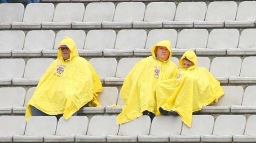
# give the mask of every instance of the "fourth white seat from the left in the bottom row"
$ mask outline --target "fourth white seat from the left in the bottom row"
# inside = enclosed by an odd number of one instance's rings
[[[90,120],[86,135],[76,135],[75,142],[104,142],[106,135],[117,135],[119,125],[116,125],[116,116],[93,116]]]

